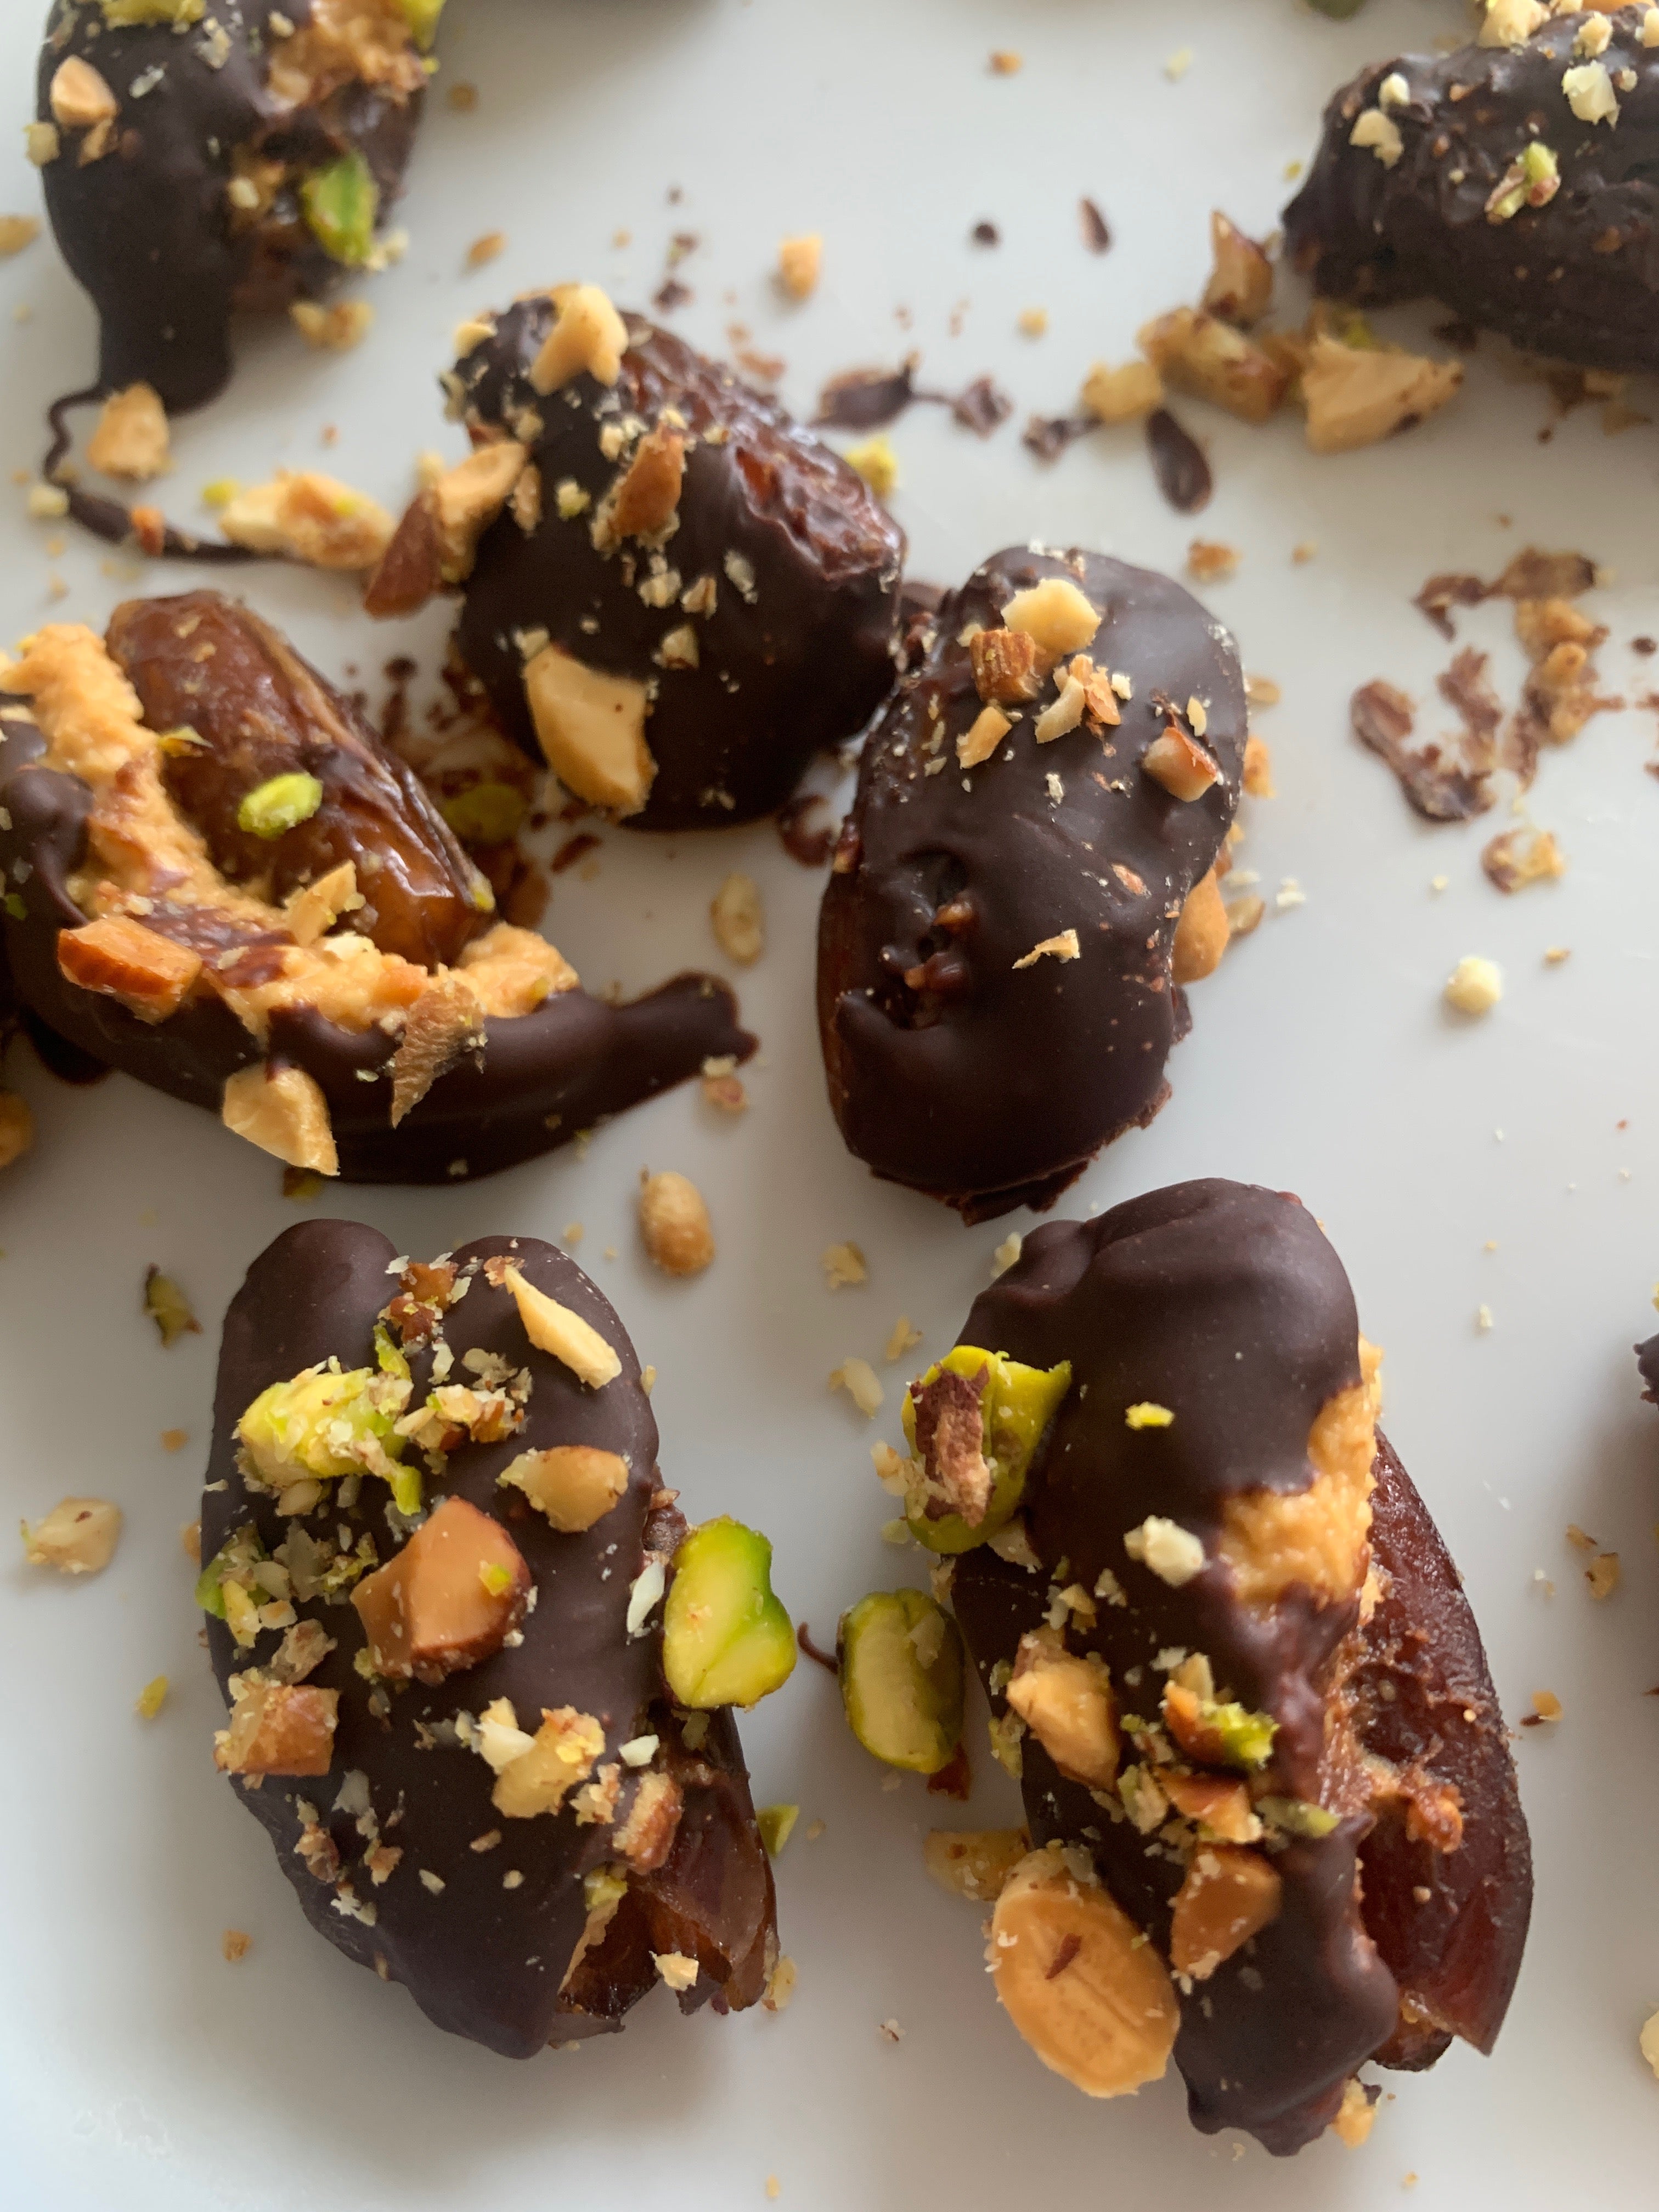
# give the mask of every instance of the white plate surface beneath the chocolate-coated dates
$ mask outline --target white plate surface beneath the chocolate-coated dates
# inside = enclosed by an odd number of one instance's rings
[[[40,0],[13,0],[0,31],[15,124],[38,13]],[[400,504],[420,447],[460,451],[434,376],[469,307],[573,274],[646,305],[677,230],[701,239],[679,270],[697,299],[677,327],[721,349],[728,323],[745,323],[761,352],[787,358],[783,389],[803,411],[821,376],[907,345],[929,378],[991,369],[1022,411],[1060,411],[1093,358],[1124,358],[1146,316],[1197,294],[1212,204],[1267,230],[1325,95],[1360,62],[1462,22],[1453,0],[1371,0],[1349,24],[1292,0],[453,0],[449,13],[445,77],[476,82],[480,106],[456,115],[438,93],[405,204],[409,257],[369,288],[372,341],[336,361],[281,327],[250,338],[230,398],[179,429],[177,513],[210,478],[254,480],[274,462],[325,465]],[[993,46],[1018,46],[1024,71],[993,77]],[[1170,82],[1164,62],[1181,46],[1192,64]],[[33,208],[33,173],[7,161],[2,204]],[[1079,243],[1082,192],[1113,223],[1106,259]],[[969,246],[980,217],[1000,226],[998,250]],[[509,252],[467,274],[469,241],[498,228]],[[615,248],[622,230],[633,243]],[[825,232],[823,290],[805,307],[768,281],[785,230]],[[40,409],[91,369],[93,323],[49,241],[0,270],[0,299],[29,310],[20,323],[0,312],[0,345],[9,462],[31,469]],[[1033,305],[1051,314],[1040,343],[1015,332]],[[1422,334],[1436,319],[1389,327]],[[1170,1106],[1064,1210],[1190,1175],[1254,1177],[1298,1190],[1345,1256],[1367,1334],[1389,1354],[1389,1431],[1462,1562],[1504,1705],[1517,1717],[1537,1688],[1566,1705],[1559,1730],[1517,1743],[1537,1913],[1495,2059],[1458,2048],[1433,2075],[1385,2077],[1363,2152],[1323,2141],[1294,2166],[1192,2135],[1175,2077],[1133,2104],[1086,2104],[1000,2017],[975,1909],[922,1871],[936,1820],[1011,1814],[978,1723],[969,1814],[916,1781],[885,1790],[812,1666],[743,1730],[757,1801],[799,1801],[803,1827],[827,1823],[814,1843],[796,1832],[779,1867],[801,1966],[783,2017],[679,2022],[657,1997],[615,2042],[526,2066],[438,2035],[301,1924],[208,1752],[219,1699],[177,1531],[195,1515],[217,1318],[294,1208],[272,1164],[206,1115],[124,1077],[66,1091],[20,1053],[42,1135],[4,1183],[4,1504],[35,1515],[64,1491],[106,1493],[128,1526],[95,1584],[31,1575],[15,1553],[0,1573],[7,2203],[710,2212],[763,2203],[768,2174],[801,2212],[1323,2212],[1391,2205],[1413,2174],[1420,2205],[1652,2201],[1659,2084],[1637,2028],[1659,2004],[1659,1701],[1644,1697],[1659,1679],[1659,1429],[1628,1354],[1659,1272],[1652,726],[1608,714],[1544,761],[1533,812],[1573,867],[1559,887],[1504,900],[1478,869],[1498,816],[1418,823],[1347,734],[1347,697],[1374,675],[1431,697],[1447,650],[1411,593],[1436,568],[1491,575],[1526,542],[1617,568],[1595,602],[1613,626],[1604,668],[1613,686],[1646,688],[1626,644],[1659,630],[1659,438],[1606,440],[1586,409],[1540,445],[1544,398],[1504,380],[1491,347],[1453,409],[1345,460],[1310,458],[1294,418],[1252,431],[1183,411],[1217,471],[1197,529],[1243,553],[1212,604],[1245,666],[1285,690],[1261,717],[1281,796],[1252,807],[1241,858],[1270,898],[1294,876],[1307,902],[1272,914],[1194,991]],[[338,425],[330,451],[323,425]],[[1018,422],[980,445],[916,409],[891,438],[922,577],[958,580],[1031,535],[1179,568],[1194,535],[1152,489],[1135,431],[1053,469],[1022,451]],[[0,531],[7,637],[49,613],[49,566],[69,582],[58,613],[93,622],[126,591],[199,582],[111,575],[82,540],[53,564],[22,491]],[[1318,557],[1292,566],[1310,538]],[[378,666],[409,635],[431,666],[442,619],[369,630],[330,580],[270,566],[241,582],[330,675],[354,664],[378,692]],[[1467,617],[1464,633],[1493,644],[1513,697],[1504,613]],[[741,978],[765,1040],[741,1124],[679,1093],[613,1124],[586,1159],[321,1203],[400,1250],[582,1221],[580,1259],[659,1367],[668,1480],[692,1513],[765,1526],[781,1593],[827,1639],[863,1590],[922,1575],[916,1553],[883,1546],[889,1506],[869,1473],[872,1438],[896,1433],[900,1369],[887,1369],[874,1427],[825,1376],[852,1352],[880,1358],[900,1312],[929,1354],[947,1345],[1006,1223],[967,1232],[843,1152],[812,1024],[818,878],[770,827],[606,836],[597,880],[560,878],[549,927],[595,984],[719,964],[706,905],[732,867],[761,878],[770,914],[765,958]],[[1555,942],[1573,958],[1546,969]],[[1467,951],[1509,978],[1482,1024],[1453,1022],[1438,1000]],[[646,1161],[690,1172],[714,1208],[721,1254],[692,1285],[655,1279],[637,1250],[630,1197]],[[869,1254],[869,1283],[830,1294],[818,1252],[845,1237]],[[208,1332],[166,1354],[139,1314],[148,1261],[188,1285]],[[1491,1334],[1475,1327],[1482,1303]],[[175,1425],[190,1444],[168,1455],[157,1438]],[[1606,1606],[1584,1588],[1568,1522],[1624,1557]],[[173,1697],[142,1723],[133,1699],[157,1672]],[[254,1938],[239,1966],[219,1958],[226,1927]],[[889,2017],[898,2046],[878,2035]]]

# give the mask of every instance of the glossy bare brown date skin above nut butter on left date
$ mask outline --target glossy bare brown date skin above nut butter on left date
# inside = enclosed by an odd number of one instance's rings
[[[168,757],[166,787],[230,883],[281,902],[352,860],[365,905],[343,927],[420,967],[451,967],[489,927],[480,876],[414,772],[250,608],[217,591],[128,599],[106,644],[148,726],[201,741]],[[323,785],[310,821],[279,838],[237,825],[248,792],[296,772]]]

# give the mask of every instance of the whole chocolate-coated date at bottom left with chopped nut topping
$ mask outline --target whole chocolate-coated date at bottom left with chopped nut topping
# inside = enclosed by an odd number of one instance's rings
[[[226,1316],[215,1759],[312,1927],[507,2057],[659,1980],[739,2011],[776,1964],[732,1714],[668,1690],[675,1495],[633,1345],[553,1245],[400,1263],[312,1221]]]

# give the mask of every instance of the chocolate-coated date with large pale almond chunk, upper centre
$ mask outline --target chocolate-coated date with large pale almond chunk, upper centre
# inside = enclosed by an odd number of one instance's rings
[[[635,830],[774,812],[891,688],[902,531],[776,400],[595,285],[462,336],[476,451],[409,509],[369,611],[458,588],[502,728]]]

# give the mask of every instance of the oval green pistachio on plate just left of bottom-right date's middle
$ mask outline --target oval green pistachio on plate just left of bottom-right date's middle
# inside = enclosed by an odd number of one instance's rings
[[[938,1774],[962,1741],[962,1637],[925,1590],[876,1590],[841,1617],[841,1703],[867,1752]]]

